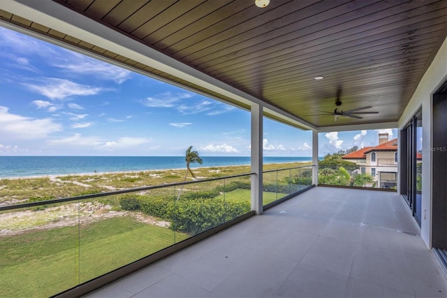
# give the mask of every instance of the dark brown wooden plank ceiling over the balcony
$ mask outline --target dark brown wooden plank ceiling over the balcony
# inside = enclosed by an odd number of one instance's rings
[[[447,32],[446,0],[56,3],[316,127],[397,121]],[[336,122],[316,115],[334,111],[337,97],[339,110],[379,113]]]

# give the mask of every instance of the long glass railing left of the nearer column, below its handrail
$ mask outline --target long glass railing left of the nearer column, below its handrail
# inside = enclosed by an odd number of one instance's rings
[[[49,297],[251,211],[251,174],[0,206],[0,297]]]

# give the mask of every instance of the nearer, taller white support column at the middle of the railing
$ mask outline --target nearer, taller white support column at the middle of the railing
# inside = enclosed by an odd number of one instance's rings
[[[263,107],[251,106],[251,210],[263,213]]]

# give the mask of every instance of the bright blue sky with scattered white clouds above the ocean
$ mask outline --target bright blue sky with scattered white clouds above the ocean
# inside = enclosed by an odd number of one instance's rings
[[[0,27],[0,155],[249,156],[250,114]],[[319,155],[379,131],[319,135]],[[397,137],[396,129],[388,129]],[[265,119],[265,156],[311,156],[312,132]]]

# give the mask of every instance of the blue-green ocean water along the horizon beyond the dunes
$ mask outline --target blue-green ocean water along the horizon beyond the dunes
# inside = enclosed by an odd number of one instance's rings
[[[200,166],[250,164],[250,157],[202,157]],[[264,157],[265,164],[310,162],[312,157]],[[0,156],[0,178],[117,171],[184,169],[182,156]]]

